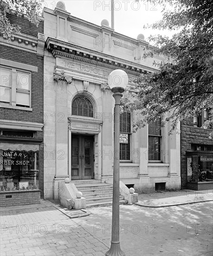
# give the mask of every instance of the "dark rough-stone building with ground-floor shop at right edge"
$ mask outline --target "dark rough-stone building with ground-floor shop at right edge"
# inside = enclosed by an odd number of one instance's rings
[[[208,118],[202,115],[181,122],[181,188],[213,188],[213,139],[211,129],[200,128]]]

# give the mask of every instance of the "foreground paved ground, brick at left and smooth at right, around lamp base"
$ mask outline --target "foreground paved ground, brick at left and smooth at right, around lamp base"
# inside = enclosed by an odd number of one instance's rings
[[[120,205],[126,256],[213,254],[212,201],[148,208]],[[104,256],[111,240],[111,206],[70,219],[52,205],[1,209],[1,256]]]

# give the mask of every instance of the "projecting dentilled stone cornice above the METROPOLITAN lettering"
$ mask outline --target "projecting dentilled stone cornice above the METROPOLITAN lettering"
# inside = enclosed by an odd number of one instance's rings
[[[45,42],[46,49],[56,57],[64,57],[67,59],[75,59],[84,61],[97,66],[110,69],[120,68],[128,74],[139,75],[142,73],[151,73],[157,69],[146,67],[131,61],[115,58],[113,56],[92,51],[83,47],[78,47],[71,43],[62,42],[57,39],[47,38]]]

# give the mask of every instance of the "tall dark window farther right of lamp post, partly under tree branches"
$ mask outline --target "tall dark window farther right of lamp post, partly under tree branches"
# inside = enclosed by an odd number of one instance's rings
[[[148,125],[148,160],[161,161],[161,118]]]

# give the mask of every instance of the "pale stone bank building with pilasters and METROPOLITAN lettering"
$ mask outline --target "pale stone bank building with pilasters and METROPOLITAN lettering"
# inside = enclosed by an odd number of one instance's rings
[[[44,8],[44,182],[45,198],[58,199],[58,183],[113,178],[114,99],[108,89],[111,71],[123,69],[129,86],[142,73],[154,72],[154,59],[143,60],[147,44],[116,33],[107,20],[101,26],[78,19],[58,4]],[[155,61],[161,61],[155,56]],[[128,91],[123,97],[128,97]],[[179,189],[180,135],[161,130],[160,119],[132,131],[137,113],[121,115],[120,179],[140,191]],[[162,117],[165,118],[165,117]]]

